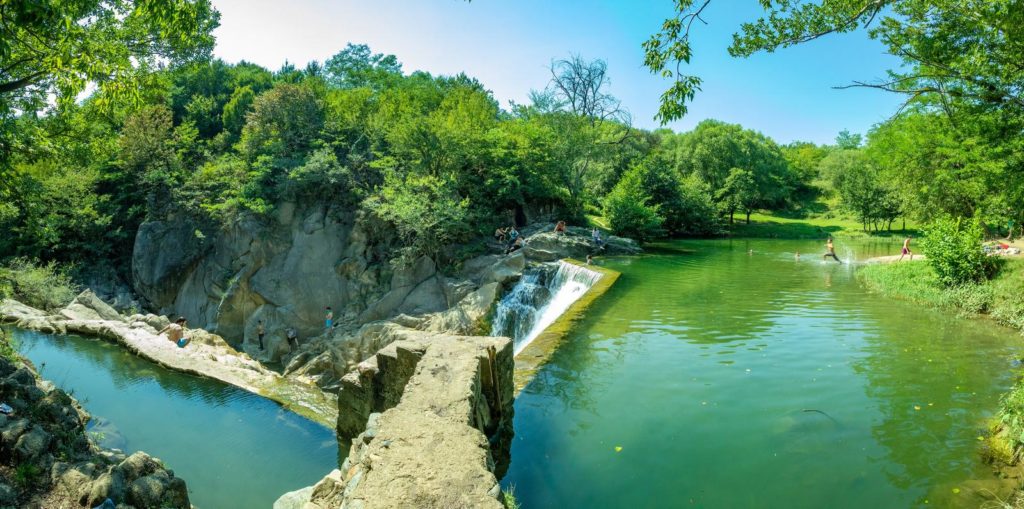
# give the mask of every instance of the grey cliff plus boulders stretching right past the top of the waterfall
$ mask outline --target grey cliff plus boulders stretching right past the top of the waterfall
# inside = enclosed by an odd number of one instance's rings
[[[182,314],[263,362],[281,362],[289,377],[335,391],[356,364],[393,341],[394,326],[473,335],[529,261],[639,251],[627,239],[597,248],[590,231],[523,229],[523,250],[485,255],[439,270],[421,257],[392,263],[390,228],[326,207],[282,204],[272,221],[249,218],[201,232],[186,222],[151,222],[139,229],[132,257],[134,287],[148,306]],[[501,247],[489,249],[500,252]],[[445,274],[446,272],[446,274]],[[339,327],[324,328],[325,306]],[[265,348],[254,344],[257,321]],[[287,344],[295,327],[301,347]]]

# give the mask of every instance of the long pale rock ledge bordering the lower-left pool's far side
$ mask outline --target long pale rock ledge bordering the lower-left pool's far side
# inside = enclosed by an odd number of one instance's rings
[[[179,348],[158,334],[167,319],[156,315],[122,316],[86,290],[55,314],[13,300],[0,301],[0,322],[52,334],[83,334],[115,341],[133,353],[165,368],[205,376],[281,402],[314,421],[333,425],[335,398],[316,385],[285,378],[249,355],[231,348],[221,337],[189,329],[190,342]]]

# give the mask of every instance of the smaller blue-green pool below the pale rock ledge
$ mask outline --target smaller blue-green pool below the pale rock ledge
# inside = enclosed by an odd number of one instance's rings
[[[10,332],[43,377],[92,414],[93,436],[163,460],[201,509],[269,508],[337,468],[334,432],[270,400],[103,341]]]

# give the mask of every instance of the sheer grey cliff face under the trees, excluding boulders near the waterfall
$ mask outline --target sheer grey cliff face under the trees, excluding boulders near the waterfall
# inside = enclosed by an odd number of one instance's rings
[[[258,320],[268,337],[284,337],[287,327],[318,335],[325,306],[338,322],[442,308],[444,300],[433,298],[442,283],[432,262],[393,271],[386,231],[351,213],[291,203],[272,221],[248,218],[202,238],[187,222],[150,222],[135,239],[133,284],[158,312],[181,314],[232,342],[254,338]]]

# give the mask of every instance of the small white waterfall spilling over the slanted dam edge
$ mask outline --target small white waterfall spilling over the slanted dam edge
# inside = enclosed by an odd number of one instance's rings
[[[512,338],[518,354],[600,278],[599,272],[564,261],[527,269],[498,303],[490,335]]]

